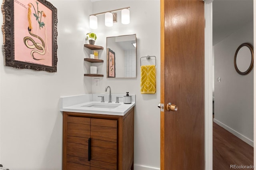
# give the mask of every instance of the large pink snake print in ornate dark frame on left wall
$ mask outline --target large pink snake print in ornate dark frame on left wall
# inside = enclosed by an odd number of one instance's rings
[[[4,64],[57,72],[57,9],[46,0],[3,0]]]

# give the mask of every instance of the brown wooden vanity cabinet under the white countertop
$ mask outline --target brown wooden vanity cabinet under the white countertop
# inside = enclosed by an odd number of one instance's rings
[[[63,112],[62,170],[133,170],[134,108],[124,116]]]

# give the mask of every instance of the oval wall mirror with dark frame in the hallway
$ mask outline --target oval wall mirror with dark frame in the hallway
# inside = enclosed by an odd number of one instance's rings
[[[253,68],[253,48],[250,43],[242,43],[236,49],[234,65],[238,74],[246,75],[250,73]]]

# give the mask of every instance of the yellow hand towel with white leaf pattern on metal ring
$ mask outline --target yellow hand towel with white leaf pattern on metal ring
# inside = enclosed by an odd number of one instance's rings
[[[141,69],[141,94],[155,94],[156,93],[156,68],[155,65],[142,65]]]

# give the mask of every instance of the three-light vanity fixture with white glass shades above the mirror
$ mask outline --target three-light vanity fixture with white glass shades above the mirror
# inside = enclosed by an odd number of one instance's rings
[[[121,20],[122,24],[130,23],[130,7],[120,8],[116,10],[100,12],[97,14],[90,15],[90,28],[97,29],[98,28],[98,18],[97,15],[105,14],[105,26],[112,27],[113,22],[116,22],[117,14],[113,12],[121,11]]]

